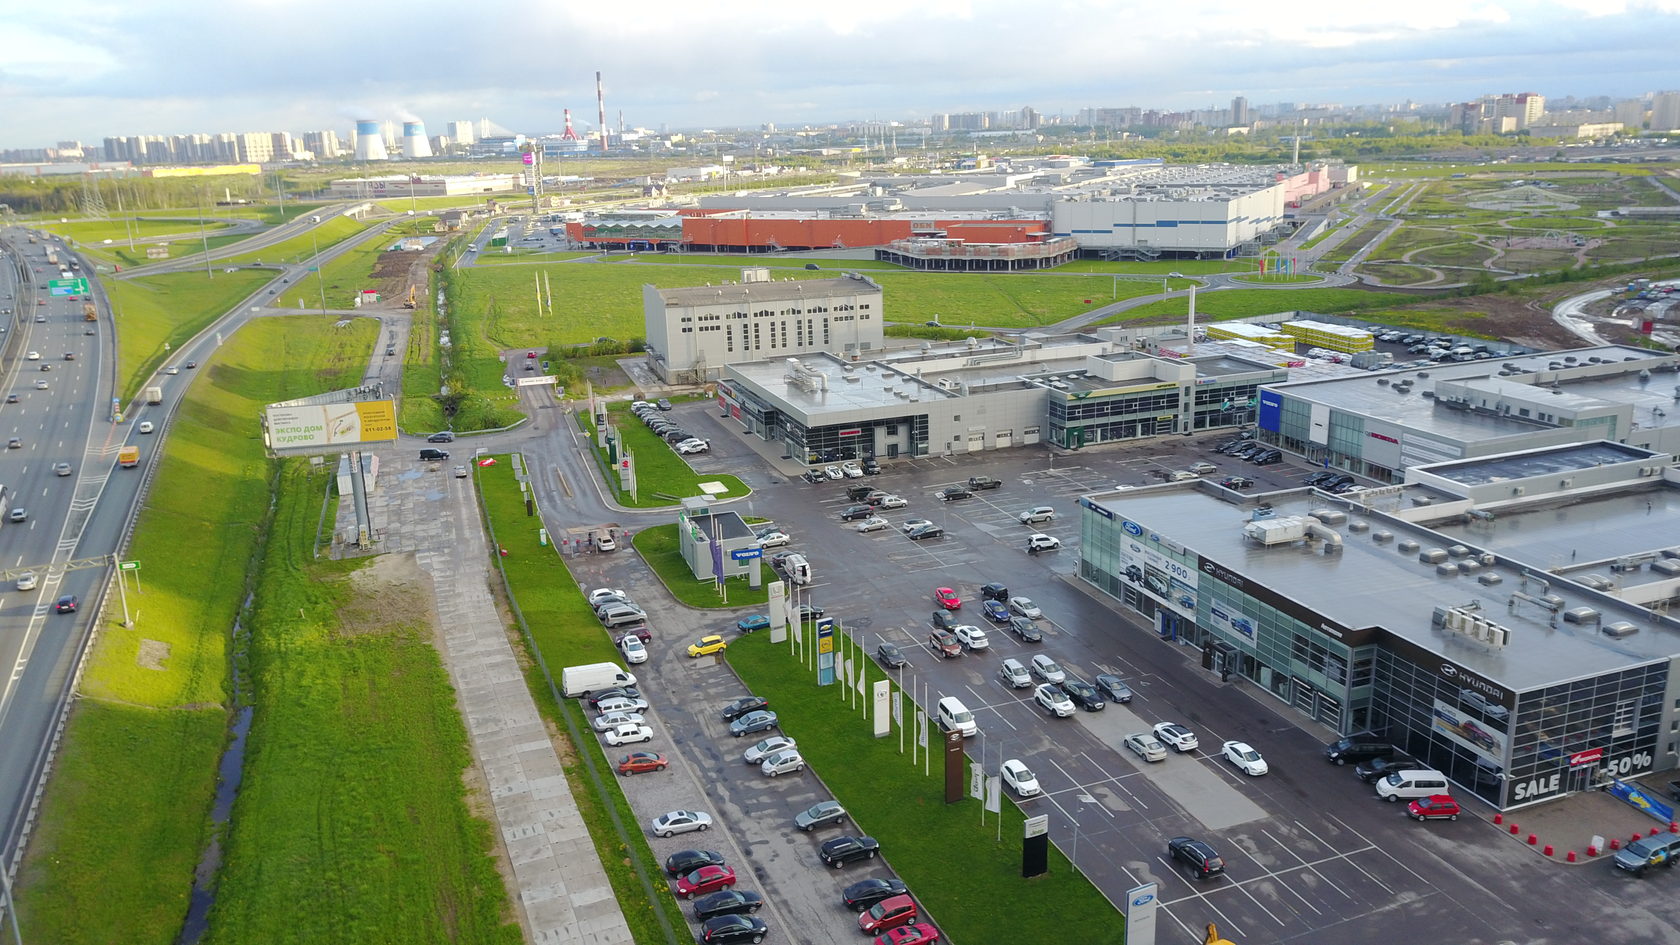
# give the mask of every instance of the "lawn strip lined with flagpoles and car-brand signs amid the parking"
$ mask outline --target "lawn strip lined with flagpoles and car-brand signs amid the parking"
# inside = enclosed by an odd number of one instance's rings
[[[882,856],[953,942],[996,942],[1003,928],[1013,942],[1124,940],[1114,906],[1055,846],[1050,873],[1021,878],[1023,816],[1013,800],[1003,804],[1000,842],[996,816],[986,814],[981,826],[978,800],[944,802],[942,758],[924,777],[922,763],[911,763],[909,745],[899,753],[897,733],[874,738],[864,716],[847,710],[840,686],[815,686],[790,644],[771,644],[768,632],[746,634],[731,641],[727,659],[748,689],[769,700],[781,731],[798,740],[800,753],[857,827],[880,841]],[[880,669],[869,676],[880,678]],[[906,701],[906,720],[911,715]],[[931,728],[937,750],[939,731]]]

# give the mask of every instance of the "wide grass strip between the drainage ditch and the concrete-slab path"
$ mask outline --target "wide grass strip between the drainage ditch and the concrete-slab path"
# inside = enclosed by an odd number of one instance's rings
[[[331,486],[286,462],[249,615],[255,711],[210,940],[514,945],[491,824],[467,809],[472,757],[430,590],[365,597],[353,572],[371,560],[311,560]]]

